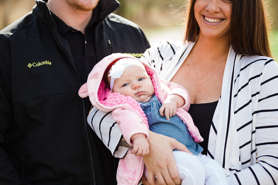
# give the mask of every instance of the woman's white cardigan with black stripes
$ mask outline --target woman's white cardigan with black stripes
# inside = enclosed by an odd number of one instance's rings
[[[141,59],[154,67],[160,73],[160,78],[170,81],[194,44],[161,41],[148,49]],[[96,116],[95,112],[91,111],[88,122],[91,127],[94,125],[99,128],[96,133],[101,135],[104,143],[108,138],[117,138],[114,141],[115,146],[108,148],[116,157],[122,157],[126,149],[119,147],[116,151],[121,135],[117,127],[111,129],[113,123],[103,121],[104,117]],[[108,117],[105,119],[110,119]],[[102,119],[101,126],[98,119]],[[117,134],[111,134],[112,132]],[[210,128],[208,156],[222,165],[229,184],[276,184],[277,134],[277,63],[264,56],[237,55],[231,47],[225,66],[221,97]]]

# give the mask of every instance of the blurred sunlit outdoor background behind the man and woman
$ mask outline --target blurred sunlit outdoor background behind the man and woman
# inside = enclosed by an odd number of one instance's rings
[[[138,24],[151,45],[161,39],[183,38],[184,29],[178,14],[184,0],[118,1],[121,6],[115,13]],[[275,12],[278,12],[278,1],[267,0],[265,3],[272,21],[271,48],[275,60],[278,61],[278,20],[275,18],[278,18],[275,15]],[[0,0],[0,30],[31,11],[34,5],[34,0]]]

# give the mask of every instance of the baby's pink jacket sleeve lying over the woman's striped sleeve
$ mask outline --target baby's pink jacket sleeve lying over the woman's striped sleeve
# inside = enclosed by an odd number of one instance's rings
[[[125,141],[130,146],[133,146],[130,139],[134,134],[145,134],[146,139],[149,138],[147,126],[142,121],[141,117],[135,112],[124,108],[117,108],[112,111],[112,117],[117,122]]]

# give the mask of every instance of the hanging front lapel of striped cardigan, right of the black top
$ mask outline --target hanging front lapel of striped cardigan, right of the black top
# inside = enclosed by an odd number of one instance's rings
[[[209,134],[208,156],[215,159],[230,174],[230,169],[241,168],[239,142],[234,117],[235,67],[240,55],[230,47],[225,65],[221,97],[217,104]]]

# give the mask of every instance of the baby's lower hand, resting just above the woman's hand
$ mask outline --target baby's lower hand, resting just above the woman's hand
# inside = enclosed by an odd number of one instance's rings
[[[131,137],[131,141],[133,141],[132,154],[136,156],[145,156],[149,154],[149,143],[145,134],[134,134]]]

